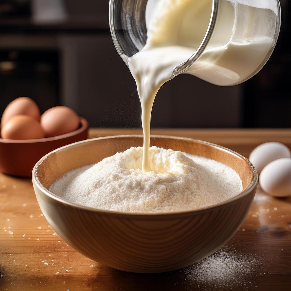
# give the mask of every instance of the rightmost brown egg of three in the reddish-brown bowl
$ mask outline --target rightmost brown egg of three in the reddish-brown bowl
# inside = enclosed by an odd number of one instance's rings
[[[76,130],[80,125],[80,118],[73,109],[57,106],[42,114],[40,124],[46,136],[57,136]]]

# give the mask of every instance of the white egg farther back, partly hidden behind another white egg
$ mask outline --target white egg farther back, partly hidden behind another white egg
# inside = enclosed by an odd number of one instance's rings
[[[277,142],[262,143],[250,154],[249,160],[255,166],[258,174],[267,164],[282,158],[291,158],[291,152],[286,145]]]

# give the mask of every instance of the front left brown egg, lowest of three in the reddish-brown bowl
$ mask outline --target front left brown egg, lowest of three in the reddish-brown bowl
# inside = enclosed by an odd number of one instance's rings
[[[11,117],[1,128],[2,139],[41,139],[45,137],[40,123],[28,115]]]

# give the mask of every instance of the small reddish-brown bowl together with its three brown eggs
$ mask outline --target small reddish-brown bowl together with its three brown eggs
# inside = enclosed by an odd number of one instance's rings
[[[41,115],[32,99],[19,97],[8,104],[1,118],[0,171],[31,177],[42,156],[87,135],[88,122],[72,109],[58,106]]]

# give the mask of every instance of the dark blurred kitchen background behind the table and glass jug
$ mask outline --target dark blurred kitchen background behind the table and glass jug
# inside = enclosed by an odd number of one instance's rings
[[[159,91],[153,127],[291,127],[290,0],[279,40],[252,79],[219,87],[183,74]],[[116,52],[108,0],[0,0],[0,114],[20,96],[65,105],[92,127],[140,127],[134,79]]]

